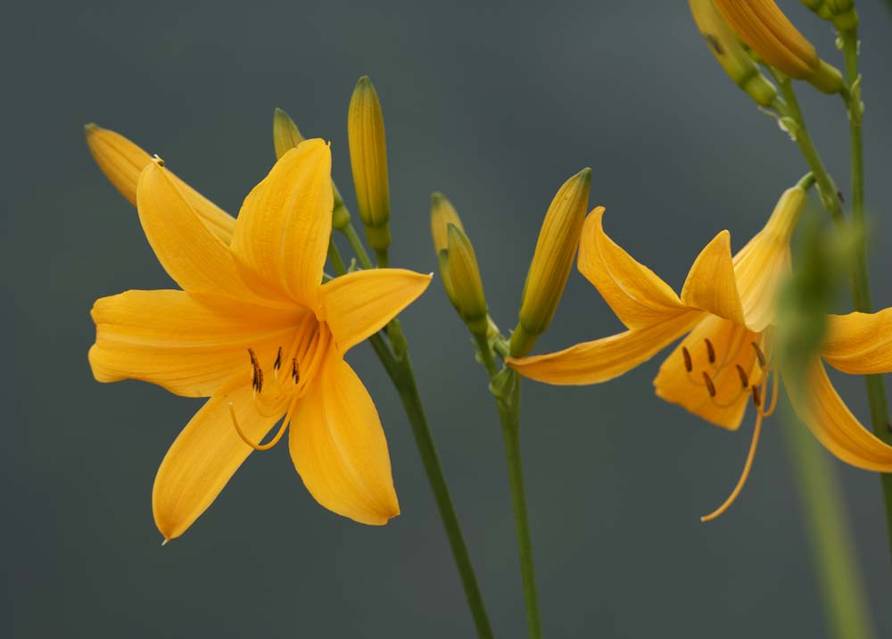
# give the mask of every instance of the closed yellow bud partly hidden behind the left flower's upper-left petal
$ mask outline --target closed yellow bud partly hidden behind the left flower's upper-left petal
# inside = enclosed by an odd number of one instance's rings
[[[110,129],[101,129],[95,124],[87,124],[84,129],[87,134],[87,146],[96,164],[102,169],[105,177],[109,178],[111,184],[120,191],[120,195],[136,206],[136,184],[145,167],[153,162],[152,157],[126,137]],[[169,176],[202,222],[213,231],[214,235],[229,244],[232,240],[232,229],[235,228],[235,218],[173,173],[169,173]]]

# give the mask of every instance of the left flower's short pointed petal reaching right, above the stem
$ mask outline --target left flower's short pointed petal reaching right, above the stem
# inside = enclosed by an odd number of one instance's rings
[[[374,335],[425,292],[430,275],[411,270],[359,270],[335,278],[321,289],[322,319],[343,355]]]

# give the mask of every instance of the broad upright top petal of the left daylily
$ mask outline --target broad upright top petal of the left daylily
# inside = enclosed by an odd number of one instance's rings
[[[244,200],[232,247],[257,278],[315,308],[332,229],[331,152],[301,142]]]

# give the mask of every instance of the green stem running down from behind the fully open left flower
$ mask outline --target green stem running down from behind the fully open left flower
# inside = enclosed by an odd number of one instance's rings
[[[347,228],[352,229],[352,226]],[[345,235],[348,236],[348,240],[353,245],[354,240],[351,240],[350,235],[347,233]],[[352,232],[352,236],[355,237],[357,244],[361,246],[355,230]],[[359,254],[359,251],[357,253],[361,262],[362,256]],[[342,276],[347,272],[341,259],[341,253],[338,252],[334,241],[328,245],[328,259],[332,262],[336,275]],[[368,255],[366,255],[366,260],[368,261]],[[425,407],[421,402],[420,394],[418,394],[415,373],[412,370],[412,361],[409,359],[409,344],[406,343],[406,338],[402,334],[399,320],[393,319],[388,324],[388,337],[391,339],[393,351],[384,341],[381,333],[376,333],[376,335],[369,337],[368,342],[375,349],[375,353],[384,365],[384,370],[387,371],[387,376],[391,378],[393,386],[396,386],[397,393],[400,394],[402,407],[406,411],[406,417],[409,418],[412,435],[415,436],[418,456],[421,457],[421,462],[425,467],[427,475],[427,482],[431,486],[431,492],[434,493],[434,502],[437,504],[437,510],[440,511],[440,519],[446,531],[446,538],[449,540],[452,559],[455,560],[456,568],[458,568],[458,576],[461,577],[461,584],[465,589],[467,605],[471,609],[472,618],[474,618],[477,636],[480,639],[492,639],[492,627],[486,614],[486,606],[483,604],[483,594],[480,592],[480,586],[477,584],[471,556],[467,552],[465,536],[462,534],[461,526],[458,524],[458,515],[456,514],[455,506],[452,504],[449,485],[446,484],[446,475],[440,463],[440,456],[437,454],[436,444],[434,444],[434,435],[427,425]]]

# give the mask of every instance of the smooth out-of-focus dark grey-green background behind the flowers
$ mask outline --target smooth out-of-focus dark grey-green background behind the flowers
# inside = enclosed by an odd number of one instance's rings
[[[780,3],[822,55],[834,34]],[[859,0],[874,301],[892,305],[892,12]],[[477,248],[494,318],[516,322],[541,218],[584,166],[607,231],[678,290],[694,256],[735,249],[805,172],[796,146],[726,79],[683,2],[559,4],[20,3],[4,12],[0,217],[6,434],[4,598],[15,637],[473,635],[409,425],[368,345],[351,353],[381,413],[402,515],[362,527],[320,508],[285,445],[254,454],[161,548],[153,477],[199,400],[87,365],[95,298],[163,288],[136,213],[87,153],[95,121],[160,154],[229,212],[271,166],[273,108],[331,140],[354,211],[346,110],[362,74],[384,105],[392,263],[435,270],[433,190]],[[800,87],[846,190],[841,101]],[[483,370],[439,282],[404,316],[421,392],[501,637],[525,634],[500,431]],[[621,329],[574,271],[536,346]],[[11,359],[10,359],[11,354]],[[652,392],[658,360],[603,386],[524,385],[522,437],[546,635],[830,636],[780,419],[749,483],[736,434]],[[863,384],[840,392],[867,419]],[[892,635],[880,486],[844,485],[878,635]],[[4,633],[5,634],[5,633]]]

